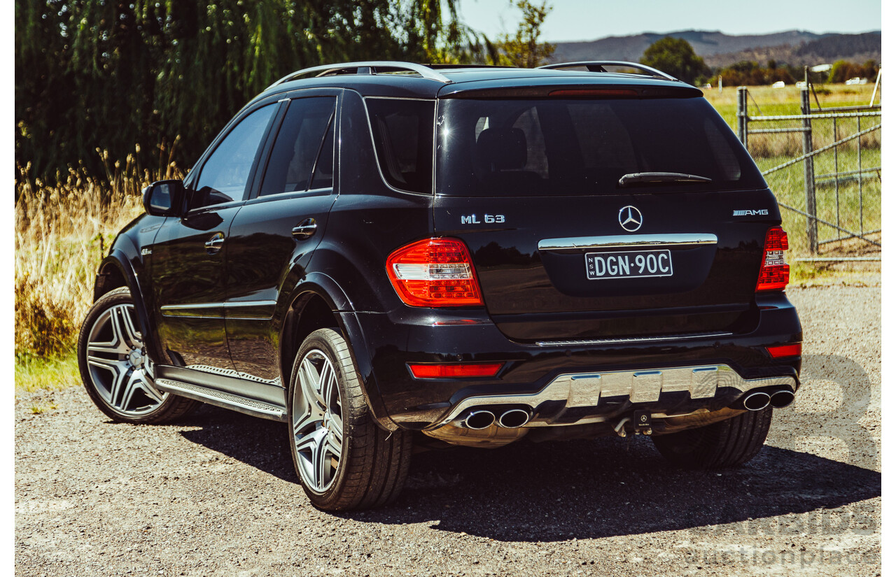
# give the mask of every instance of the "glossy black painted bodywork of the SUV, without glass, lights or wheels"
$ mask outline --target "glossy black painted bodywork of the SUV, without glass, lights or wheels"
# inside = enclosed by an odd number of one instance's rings
[[[389,429],[420,429],[439,418],[447,403],[465,395],[532,392],[570,370],[728,363],[745,378],[798,374],[798,358],[773,361],[764,351],[768,345],[802,340],[796,310],[784,293],[754,293],[764,233],[780,224],[771,191],[658,189],[574,199],[449,198],[395,191],[380,174],[363,100],[463,98],[508,88],[528,90],[526,96],[531,96],[535,89],[582,85],[693,89],[587,72],[442,72],[452,84],[403,75],[340,75],[292,81],[263,93],[228,128],[258,106],[313,94],[306,89],[340,93],[332,191],[254,198],[271,134],[283,117],[286,105],[281,104],[246,197],[183,217],[136,219],[104,260],[96,296],[127,284],[140,297],[141,329],[150,335],[154,361],[231,371],[228,390],[245,382],[246,396],[256,398],[257,383],[241,381],[237,373],[279,386],[288,382],[297,346],[289,330],[297,330],[304,303],[323,301],[349,341],[375,417]],[[208,155],[186,179],[187,189]],[[625,205],[642,210],[638,233],[714,233],[718,244],[673,250],[676,275],[671,278],[602,281],[586,279],[582,254],[538,250],[538,241],[547,238],[625,234],[617,221],[618,209]],[[769,214],[731,216],[744,208],[766,208]],[[471,214],[501,214],[504,224],[461,224],[461,216]],[[318,223],[317,231],[297,240],[292,228],[309,217]],[[204,242],[215,233],[222,233],[225,242],[210,255]],[[398,298],[386,276],[385,259],[404,244],[434,235],[468,244],[485,307],[419,309]],[[144,249],[151,254],[143,255]],[[189,311],[161,314],[163,306],[197,303],[220,307],[209,307],[203,317]],[[719,330],[733,334],[655,344],[534,343]],[[409,361],[506,365],[495,378],[422,380],[409,374]],[[197,384],[217,382],[190,369],[175,373],[185,380],[194,374]]]

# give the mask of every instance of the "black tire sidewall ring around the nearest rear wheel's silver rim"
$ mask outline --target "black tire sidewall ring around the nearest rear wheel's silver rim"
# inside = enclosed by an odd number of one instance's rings
[[[345,483],[346,471],[349,469],[347,463],[351,458],[352,452],[352,435],[351,435],[351,420],[352,420],[352,408],[349,403],[349,395],[347,390],[347,378],[345,375],[345,370],[342,366],[342,361],[340,361],[340,356],[337,354],[335,348],[338,344],[335,339],[338,339],[341,343],[345,343],[344,339],[337,333],[336,331],[323,328],[314,331],[311,335],[308,335],[302,345],[298,348],[298,352],[296,353],[296,358],[292,364],[292,371],[289,376],[289,389],[287,392],[287,418],[289,420],[289,454],[292,456],[292,465],[296,471],[296,475],[299,479],[299,482],[302,484],[302,488],[305,489],[306,495],[311,500],[314,505],[317,505],[322,508],[326,508],[328,505],[332,505],[340,496],[342,485]],[[295,390],[298,385],[298,367],[301,364],[303,358],[309,351],[313,351],[317,349],[327,355],[330,363],[332,364],[333,369],[336,372],[336,386],[339,387],[339,395],[340,395],[340,403],[342,405],[342,454],[339,460],[339,467],[336,470],[336,479],[332,482],[330,488],[328,488],[323,493],[316,493],[312,489],[308,488],[305,484],[304,479],[302,479],[302,475],[299,473],[298,466],[298,454],[296,451],[296,443],[295,436],[293,432],[293,396],[295,395]]]

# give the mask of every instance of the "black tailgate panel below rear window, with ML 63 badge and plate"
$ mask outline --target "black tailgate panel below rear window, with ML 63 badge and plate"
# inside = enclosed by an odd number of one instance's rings
[[[467,243],[489,315],[521,341],[748,331],[778,223],[768,190],[435,204],[436,234]]]

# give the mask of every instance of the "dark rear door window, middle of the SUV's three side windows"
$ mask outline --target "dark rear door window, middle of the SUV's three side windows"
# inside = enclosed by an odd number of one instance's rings
[[[335,108],[335,97],[297,98],[289,103],[259,196],[332,186]]]

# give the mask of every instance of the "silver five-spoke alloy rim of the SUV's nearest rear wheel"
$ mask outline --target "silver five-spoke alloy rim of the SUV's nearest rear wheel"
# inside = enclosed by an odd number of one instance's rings
[[[331,487],[342,457],[342,401],[332,361],[319,349],[306,352],[293,388],[292,438],[306,488]]]

